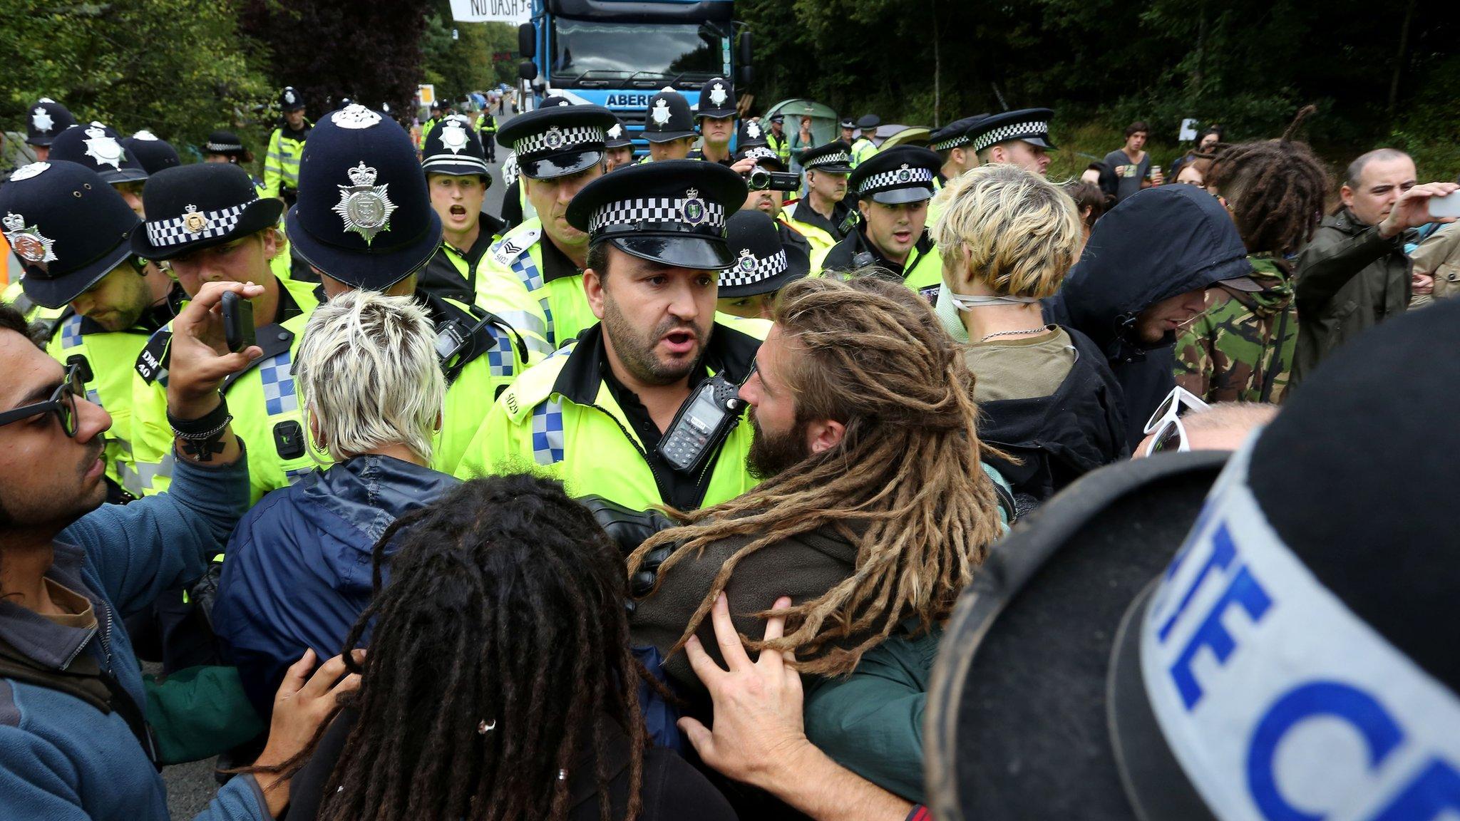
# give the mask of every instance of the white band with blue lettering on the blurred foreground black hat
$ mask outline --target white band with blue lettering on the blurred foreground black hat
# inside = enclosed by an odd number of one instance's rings
[[[1460,698],[1283,545],[1232,456],[1146,609],[1161,732],[1222,821],[1460,818]]]

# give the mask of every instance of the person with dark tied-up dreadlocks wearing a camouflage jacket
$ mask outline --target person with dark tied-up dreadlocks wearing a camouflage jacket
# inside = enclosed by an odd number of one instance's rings
[[[1222,150],[1206,175],[1207,190],[1226,203],[1237,224],[1248,275],[1259,289],[1218,283],[1206,310],[1177,337],[1177,384],[1206,402],[1282,402],[1298,346],[1292,263],[1318,228],[1329,175],[1294,130],[1304,108],[1276,140]]]

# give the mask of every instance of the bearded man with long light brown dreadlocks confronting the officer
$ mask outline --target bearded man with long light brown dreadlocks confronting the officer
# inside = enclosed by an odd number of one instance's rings
[[[788,285],[740,392],[762,484],[695,513],[629,557],[635,644],[699,691],[680,650],[718,662],[707,614],[729,596],[736,628],[761,635],[778,596],[791,650],[813,681],[807,736],[844,767],[921,801],[923,691],[940,622],[1003,533],[996,473],[981,466],[972,373],[924,299],[863,276]],[[842,678],[876,666],[880,682]],[[888,675],[888,671],[899,671]]]

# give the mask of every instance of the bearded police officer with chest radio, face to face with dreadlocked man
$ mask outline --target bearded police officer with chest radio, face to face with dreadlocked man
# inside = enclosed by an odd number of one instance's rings
[[[715,282],[734,261],[726,215],[745,194],[734,171],[696,161],[632,165],[583,188],[568,219],[590,237],[584,288],[602,323],[502,394],[457,475],[536,462],[574,494],[631,510],[694,510],[749,489],[750,427],[730,425],[739,408],[711,396],[694,410],[708,432],[673,427],[698,390],[723,396],[749,375],[768,330],[715,321]]]

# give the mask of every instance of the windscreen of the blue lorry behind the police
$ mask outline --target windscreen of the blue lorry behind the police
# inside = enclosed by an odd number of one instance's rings
[[[552,79],[708,79],[724,70],[724,39],[694,23],[553,20]],[[698,77],[696,77],[698,76]],[[587,79],[584,77],[584,79]]]

